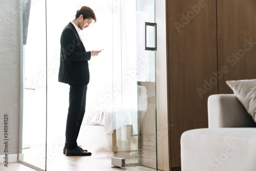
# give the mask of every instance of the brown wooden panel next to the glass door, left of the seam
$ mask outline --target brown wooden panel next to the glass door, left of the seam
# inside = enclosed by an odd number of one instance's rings
[[[216,0],[167,0],[167,29],[170,153],[180,167],[181,134],[208,127],[207,98],[218,94]]]

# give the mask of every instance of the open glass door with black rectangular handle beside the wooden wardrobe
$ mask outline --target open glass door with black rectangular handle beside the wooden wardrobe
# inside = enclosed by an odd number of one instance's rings
[[[114,115],[114,157],[129,170],[156,170],[155,1],[113,1],[113,11],[120,14],[114,23],[121,32],[114,55],[120,65],[114,85],[121,84],[121,95],[114,97],[114,111],[121,108]]]

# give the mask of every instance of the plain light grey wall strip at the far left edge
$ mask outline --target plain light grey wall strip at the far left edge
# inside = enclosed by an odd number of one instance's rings
[[[19,27],[17,0],[0,1],[0,139],[4,139],[4,115],[8,115],[8,154],[17,154],[19,115]],[[4,155],[0,143],[0,155]],[[2,160],[1,160],[2,161]]]

